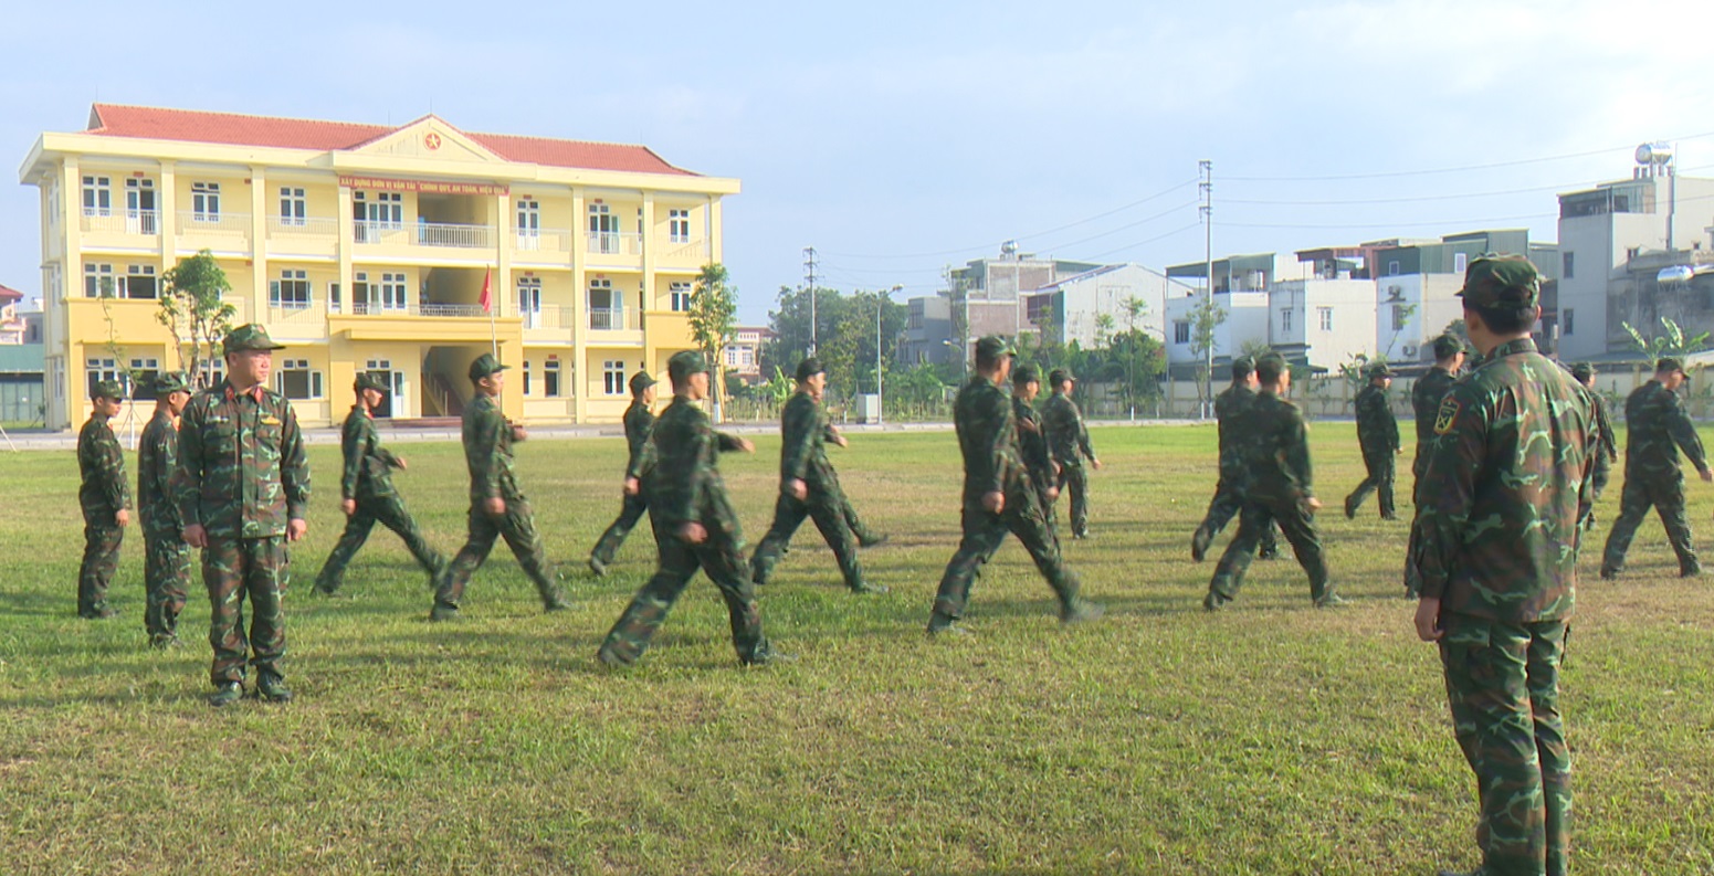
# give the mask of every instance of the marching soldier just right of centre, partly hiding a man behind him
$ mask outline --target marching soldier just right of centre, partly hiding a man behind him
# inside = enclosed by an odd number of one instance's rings
[[[929,633],[965,633],[956,622],[970,602],[970,585],[982,564],[999,550],[1006,533],[1023,542],[1035,567],[1059,597],[1059,619],[1066,624],[1095,621],[1100,603],[1078,595],[1076,573],[1059,557],[1059,542],[1047,531],[1047,518],[1030,483],[1030,471],[1018,458],[1018,423],[1011,399],[1001,386],[1011,375],[1011,345],[989,334],[975,345],[975,374],[958,389],[953,425],[963,453],[963,540],[946,564]]]

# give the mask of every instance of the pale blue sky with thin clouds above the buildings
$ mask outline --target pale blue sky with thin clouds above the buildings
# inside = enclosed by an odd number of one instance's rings
[[[1678,142],[1714,175],[1692,2],[29,3],[0,50],[12,180],[93,101],[641,142],[737,177],[725,261],[759,322],[802,249],[835,288],[932,293],[1028,252],[1200,261],[1479,228]],[[1457,170],[1452,170],[1457,168]],[[0,283],[39,291],[33,187]],[[1695,204],[1714,216],[1714,206]],[[1711,219],[1714,225],[1714,219]]]

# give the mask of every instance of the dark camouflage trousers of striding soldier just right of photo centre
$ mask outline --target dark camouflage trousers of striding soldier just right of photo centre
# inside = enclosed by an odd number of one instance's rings
[[[1035,567],[1047,579],[1047,586],[1059,597],[1059,609],[1070,610],[1078,600],[1078,578],[1059,555],[1059,540],[1047,530],[1047,518],[1035,499],[1035,490],[1008,492],[1006,506],[999,514],[982,507],[982,497],[965,497],[963,538],[958,550],[941,574],[939,591],[934,595],[934,614],[944,621],[963,617],[965,605],[970,603],[970,586],[982,573],[982,566],[1006,542],[1006,533],[1016,535],[1023,549],[1030,552]]]

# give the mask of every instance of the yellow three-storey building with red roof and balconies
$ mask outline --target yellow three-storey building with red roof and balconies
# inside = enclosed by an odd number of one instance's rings
[[[643,146],[94,105],[43,134],[48,423],[118,372],[178,367],[159,276],[211,250],[235,324],[261,322],[305,425],[345,417],[358,370],[396,418],[456,417],[499,345],[502,406],[531,423],[615,422],[626,379],[691,346],[698,271],[720,255],[734,178]],[[483,288],[490,307],[483,307]]]

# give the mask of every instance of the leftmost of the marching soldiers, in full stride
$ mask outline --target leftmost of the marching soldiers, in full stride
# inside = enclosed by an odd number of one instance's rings
[[[345,567],[369,540],[375,523],[405,540],[405,549],[428,573],[428,585],[434,586],[446,571],[446,557],[423,540],[422,530],[405,507],[405,499],[393,487],[393,470],[403,471],[405,459],[382,447],[375,432],[372,411],[387,396],[387,384],[363,372],[357,375],[351,391],[357,393],[357,403],[345,417],[345,429],[339,434],[339,451],[345,454],[345,475],[339,478],[345,531],[322,564],[321,574],[315,576],[315,591],[324,597],[338,593],[339,583],[345,581]]]

